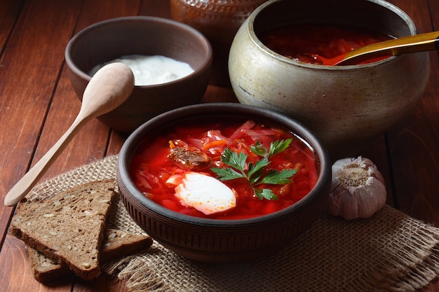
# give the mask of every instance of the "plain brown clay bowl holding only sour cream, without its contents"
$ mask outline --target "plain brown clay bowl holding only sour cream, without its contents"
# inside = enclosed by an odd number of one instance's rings
[[[150,118],[200,102],[212,69],[212,49],[196,29],[180,22],[147,16],[114,18],[90,25],[67,44],[67,74],[79,99],[90,81],[90,69],[123,55],[164,55],[187,62],[189,76],[158,85],[135,86],[128,100],[98,119],[129,134]]]

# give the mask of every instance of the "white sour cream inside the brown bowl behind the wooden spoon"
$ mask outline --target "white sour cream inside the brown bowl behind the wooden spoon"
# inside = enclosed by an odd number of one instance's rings
[[[136,86],[168,83],[194,72],[194,69],[186,62],[177,61],[170,57],[162,55],[126,55],[98,64],[88,74],[93,76],[97,70],[114,62],[121,62],[130,67],[134,74]]]

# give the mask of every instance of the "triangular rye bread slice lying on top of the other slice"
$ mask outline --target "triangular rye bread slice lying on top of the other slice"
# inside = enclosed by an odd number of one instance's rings
[[[50,200],[22,201],[11,232],[82,279],[100,275],[99,249],[114,198],[114,179],[70,188]]]

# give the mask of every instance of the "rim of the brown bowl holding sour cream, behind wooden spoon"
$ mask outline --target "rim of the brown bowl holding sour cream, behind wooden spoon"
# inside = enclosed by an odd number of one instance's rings
[[[131,21],[131,22],[138,22],[138,21],[161,22],[161,23],[165,23],[165,24],[170,25],[170,26],[179,27],[180,29],[187,30],[191,34],[194,34],[198,39],[203,40],[203,43],[205,43],[205,46],[207,47],[207,50],[208,50],[208,54],[207,54],[208,57],[204,60],[203,64],[201,64],[197,69],[194,69],[194,72],[192,72],[191,74],[184,76],[182,78],[178,78],[174,81],[166,82],[166,83],[159,83],[159,84],[152,84],[152,85],[135,85],[136,88],[154,88],[154,87],[167,85],[170,83],[178,83],[178,82],[184,81],[185,79],[191,78],[192,76],[198,74],[198,71],[205,68],[206,66],[208,66],[212,62],[212,46],[210,45],[210,42],[203,34],[201,34],[201,32],[199,32],[197,29],[194,29],[194,27],[186,25],[182,22],[177,22],[175,20],[170,20],[168,18],[160,18],[160,17],[156,17],[156,16],[124,16],[121,18],[112,18],[109,20],[103,20],[101,22],[96,22],[93,25],[89,25],[88,27],[81,29],[81,31],[76,33],[72,37],[72,39],[70,39],[69,43],[67,43],[67,46],[65,48],[65,61],[67,62],[67,64],[69,64],[70,69],[72,69],[72,71],[74,71],[74,73],[77,74],[78,76],[80,76],[81,78],[84,78],[85,80],[90,81],[91,76],[88,75],[86,72],[82,71],[81,69],[79,69],[79,67],[76,66],[76,63],[74,62],[74,60],[72,60],[71,53],[72,53],[72,49],[76,45],[76,42],[78,42],[79,39],[83,35],[88,34],[89,32],[92,32],[94,29],[97,29],[97,28],[102,27],[104,25],[107,25],[109,23],[127,22],[127,21]]]

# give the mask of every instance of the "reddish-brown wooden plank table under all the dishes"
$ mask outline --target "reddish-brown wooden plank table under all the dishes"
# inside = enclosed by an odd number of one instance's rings
[[[391,0],[419,32],[439,30],[438,0]],[[123,281],[34,280],[24,245],[8,232],[14,212],[4,196],[72,124],[80,103],[66,75],[64,50],[79,30],[126,15],[170,17],[166,0],[0,0],[0,291],[126,291]],[[439,60],[414,111],[363,153],[386,178],[387,203],[439,226]],[[398,74],[397,72],[395,74]],[[234,101],[231,89],[210,86],[206,102]],[[43,179],[119,153],[126,137],[98,120],[74,138]],[[436,279],[422,291],[439,291]]]

